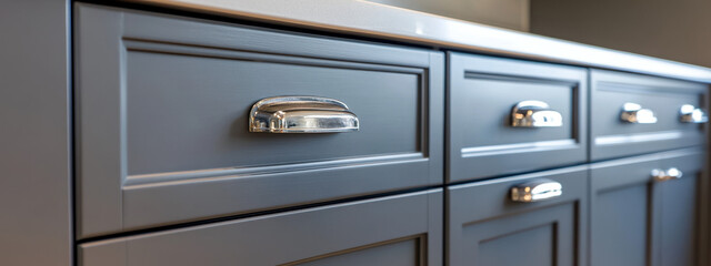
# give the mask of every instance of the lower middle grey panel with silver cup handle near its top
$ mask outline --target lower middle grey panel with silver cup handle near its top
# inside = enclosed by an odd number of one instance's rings
[[[587,187],[584,166],[452,186],[449,265],[585,265]]]

